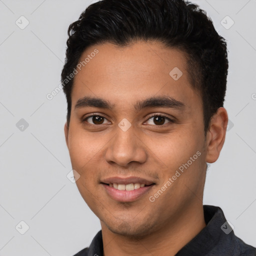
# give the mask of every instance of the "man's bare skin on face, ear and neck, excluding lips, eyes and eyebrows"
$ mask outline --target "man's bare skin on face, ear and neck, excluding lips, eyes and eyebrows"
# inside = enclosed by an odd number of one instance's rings
[[[74,77],[70,123],[64,125],[72,168],[80,174],[77,187],[100,219],[105,256],[174,255],[205,227],[205,162],[219,156],[227,112],[218,108],[204,136],[202,99],[192,89],[184,53],[177,49],[152,41],[125,47],[103,43],[87,48],[80,60],[95,48],[99,52]],[[173,67],[183,73],[178,80],[169,75]],[[115,107],[75,109],[76,101],[88,95]],[[184,110],[133,109],[135,101],[160,95],[183,102]],[[81,121],[92,114],[105,117],[103,123]],[[174,122],[165,119],[157,125],[149,114],[164,114]],[[123,118],[131,123],[127,131],[118,126]],[[149,201],[197,151],[201,155],[154,202]],[[100,184],[111,176],[139,176],[155,185],[135,201],[119,202]]]

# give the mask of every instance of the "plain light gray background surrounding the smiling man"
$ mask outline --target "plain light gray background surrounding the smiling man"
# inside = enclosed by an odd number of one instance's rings
[[[64,94],[46,98],[60,81],[67,27],[91,2],[0,0],[0,255],[70,256],[100,229],[66,177]],[[256,246],[256,1],[193,2],[206,10],[229,50],[228,132],[209,166],[203,203],[220,206],[235,234]],[[15,23],[25,24],[21,15],[29,21],[23,29]],[[24,234],[21,220],[29,226]]]

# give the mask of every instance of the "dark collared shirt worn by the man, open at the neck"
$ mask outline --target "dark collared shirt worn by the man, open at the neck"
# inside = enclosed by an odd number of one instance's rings
[[[235,236],[220,207],[203,205],[206,226],[176,256],[256,256],[256,248]],[[256,239],[256,234],[254,235]],[[103,256],[101,230],[74,256]]]

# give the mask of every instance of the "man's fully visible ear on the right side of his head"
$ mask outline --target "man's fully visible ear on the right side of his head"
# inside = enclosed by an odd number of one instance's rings
[[[206,135],[206,162],[212,163],[217,160],[225,141],[227,121],[226,109],[219,107],[210,119]]]

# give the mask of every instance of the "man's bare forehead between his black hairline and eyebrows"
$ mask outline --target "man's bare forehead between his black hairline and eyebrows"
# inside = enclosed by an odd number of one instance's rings
[[[159,42],[141,41],[121,47],[112,43],[92,45],[82,53],[79,63],[72,108],[86,95],[122,105],[159,95],[174,97],[188,106],[191,100],[200,101],[189,83],[183,52]]]

